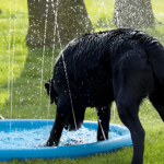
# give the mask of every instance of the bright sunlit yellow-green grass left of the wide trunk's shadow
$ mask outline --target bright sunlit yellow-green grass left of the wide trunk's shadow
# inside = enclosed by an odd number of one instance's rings
[[[25,46],[24,39],[27,33],[28,21],[27,4],[25,1],[1,1],[0,9],[2,11],[0,14],[1,114],[2,106],[10,97],[11,81],[19,78],[27,57],[27,47]]]

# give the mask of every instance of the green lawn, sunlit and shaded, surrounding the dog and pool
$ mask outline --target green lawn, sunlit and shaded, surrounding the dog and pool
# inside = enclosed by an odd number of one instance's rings
[[[95,31],[115,28],[113,24],[114,0],[85,0],[86,9]],[[155,27],[145,30],[164,45],[164,1],[152,0]],[[26,0],[0,1],[0,115],[5,118],[55,118],[56,106],[49,104],[44,83],[51,77],[55,59],[59,51],[51,48],[28,49],[24,43],[27,33]],[[159,22],[162,22],[160,24]],[[44,55],[44,63],[43,63]],[[42,68],[43,73],[42,73]],[[42,78],[43,77],[43,78]],[[42,81],[43,79],[43,81]],[[157,113],[145,99],[140,107],[140,119],[147,131],[144,164],[162,164],[164,161],[164,126]],[[94,109],[87,109],[85,120],[96,120]],[[121,124],[115,103],[112,122]],[[130,163],[132,148],[115,153],[97,154],[79,160],[43,161],[24,163]],[[12,161],[12,164],[22,163]]]

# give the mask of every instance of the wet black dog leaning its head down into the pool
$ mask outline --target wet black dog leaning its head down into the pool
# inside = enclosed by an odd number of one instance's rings
[[[102,120],[97,141],[108,139],[110,105],[116,101],[121,121],[133,142],[132,164],[143,163],[144,129],[138,117],[141,101],[150,101],[164,120],[164,47],[141,31],[114,30],[85,34],[60,52],[46,84],[57,104],[56,121],[46,143],[58,145],[63,127],[78,129],[86,107],[95,106]],[[74,124],[74,118],[75,121]]]

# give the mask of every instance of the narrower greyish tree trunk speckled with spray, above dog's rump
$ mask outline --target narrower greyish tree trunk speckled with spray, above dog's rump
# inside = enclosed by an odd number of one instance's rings
[[[151,0],[116,0],[114,21],[117,27],[153,26]]]

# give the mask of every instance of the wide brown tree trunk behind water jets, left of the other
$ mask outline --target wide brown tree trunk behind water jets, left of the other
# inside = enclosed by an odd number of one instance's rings
[[[65,46],[74,37],[93,31],[83,0],[27,0],[26,45]]]

